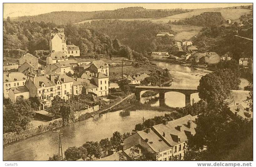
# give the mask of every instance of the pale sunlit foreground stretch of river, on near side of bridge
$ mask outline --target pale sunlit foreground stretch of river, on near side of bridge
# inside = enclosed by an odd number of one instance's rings
[[[101,117],[89,118],[57,129],[63,133],[62,150],[70,146],[81,146],[85,141],[110,138],[114,131],[131,132],[137,123],[141,123],[142,117],[148,119],[168,113],[144,110],[124,114],[120,112],[122,111],[108,112]],[[58,153],[58,147],[58,133],[49,131],[6,146],[3,150],[4,160],[48,160],[49,156]]]

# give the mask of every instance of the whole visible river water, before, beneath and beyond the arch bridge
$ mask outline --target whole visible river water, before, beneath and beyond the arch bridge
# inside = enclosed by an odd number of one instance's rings
[[[194,69],[168,62],[155,62],[161,68],[170,70],[172,85],[198,86],[202,75],[209,73],[205,69]],[[195,102],[199,100],[198,93],[191,95]],[[184,107],[185,95],[177,92],[168,92],[165,95],[165,103],[170,107]],[[159,106],[159,101],[151,103]],[[164,115],[167,112],[157,111],[131,111],[130,115],[121,116],[120,111],[108,112],[98,118],[89,118],[75,122],[71,126],[61,127],[63,152],[70,146],[81,146],[85,141],[100,141],[110,138],[114,131],[131,132],[141,118],[153,118]],[[56,130],[55,130],[56,131]],[[57,132],[49,131],[23,141],[18,141],[5,146],[3,149],[4,160],[48,160],[49,156],[58,153],[59,138]]]

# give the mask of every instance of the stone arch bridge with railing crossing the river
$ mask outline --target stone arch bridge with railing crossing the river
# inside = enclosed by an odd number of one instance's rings
[[[159,93],[160,106],[165,105],[165,93],[167,92],[179,92],[185,94],[185,104],[190,105],[190,95],[197,93],[197,87],[192,86],[135,86],[135,95],[137,100],[141,100],[142,91],[154,91]]]

